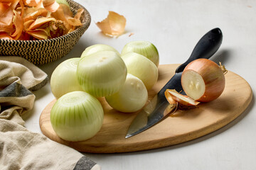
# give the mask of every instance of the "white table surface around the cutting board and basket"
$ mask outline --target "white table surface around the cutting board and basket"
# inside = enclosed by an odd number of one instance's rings
[[[103,43],[122,47],[132,40],[149,40],[159,50],[160,64],[183,63],[198,40],[212,28],[223,31],[223,44],[213,57],[243,77],[255,92],[256,1],[179,0],[75,0],[90,12],[92,22],[73,50],[62,59],[40,68],[50,77],[55,67],[70,57],[80,57],[85,47]],[[124,35],[109,38],[95,23],[115,11],[127,18]],[[134,35],[129,36],[130,33]],[[26,128],[40,132],[39,116],[53,100],[48,83],[36,91]],[[209,135],[180,145],[122,154],[85,155],[102,169],[256,169],[255,98],[232,123]]]

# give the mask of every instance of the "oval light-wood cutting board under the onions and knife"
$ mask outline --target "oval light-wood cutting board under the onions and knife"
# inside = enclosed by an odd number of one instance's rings
[[[149,91],[149,99],[153,98],[171,79],[176,67],[178,64],[159,66],[159,80]],[[218,130],[245,111],[252,100],[250,85],[238,74],[230,71],[225,74],[225,79],[225,90],[215,101],[200,103],[198,108],[188,111],[176,111],[174,115],[169,116],[153,128],[128,139],[124,137],[137,113],[114,111],[104,98],[100,98],[105,111],[103,125],[100,132],[90,140],[68,142],[55,134],[50,124],[50,109],[55,100],[50,102],[41,113],[40,128],[43,134],[51,140],[73,147],[80,152],[135,152],[176,145]]]

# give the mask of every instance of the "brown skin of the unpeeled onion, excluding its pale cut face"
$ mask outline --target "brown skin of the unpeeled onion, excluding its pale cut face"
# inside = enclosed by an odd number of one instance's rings
[[[183,86],[183,75],[191,70],[200,74],[203,78],[204,84],[206,85],[206,89],[201,98],[193,98],[194,100],[200,102],[209,102],[215,100],[220,96],[220,94],[223,93],[225,89],[225,76],[223,74],[223,70],[218,66],[218,64],[211,60],[198,59],[189,63],[183,70],[183,74],[181,76],[181,85],[187,95],[187,87]]]

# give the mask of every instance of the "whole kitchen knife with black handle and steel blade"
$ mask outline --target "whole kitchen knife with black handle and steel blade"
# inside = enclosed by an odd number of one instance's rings
[[[125,138],[132,137],[151,128],[164,120],[164,118],[171,113],[171,108],[169,108],[169,103],[164,96],[164,91],[166,91],[166,89],[175,89],[176,91],[182,91],[181,94],[184,94],[181,86],[181,74],[183,69],[193,60],[198,58],[210,58],[219,49],[222,40],[223,34],[220,28],[214,28],[203,35],[194,47],[188,60],[177,67],[174,77],[172,77],[159,93],[142,108],[142,111],[137,114],[129,126]]]

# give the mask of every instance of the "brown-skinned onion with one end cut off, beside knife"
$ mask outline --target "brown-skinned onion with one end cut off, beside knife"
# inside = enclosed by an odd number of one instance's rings
[[[181,85],[185,93],[195,101],[213,101],[225,88],[226,70],[208,59],[198,59],[183,70]]]

